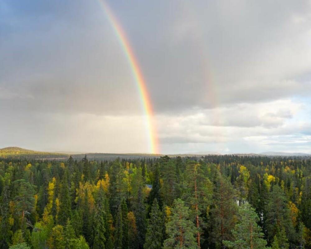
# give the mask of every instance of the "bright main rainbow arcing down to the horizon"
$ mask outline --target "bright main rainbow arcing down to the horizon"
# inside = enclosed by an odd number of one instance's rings
[[[151,99],[147,91],[146,82],[144,81],[137,59],[135,58],[131,45],[125,35],[125,32],[123,31],[121,25],[119,24],[117,18],[114,16],[109,6],[103,0],[98,0],[98,2],[100,3],[100,6],[103,8],[109,23],[114,29],[114,33],[116,34],[118,41],[123,49],[123,52],[128,60],[128,63],[132,70],[133,77],[137,84],[139,96],[145,113],[146,127],[149,137],[149,152],[152,154],[159,154],[159,142],[156,127],[153,120],[154,112],[151,105]]]

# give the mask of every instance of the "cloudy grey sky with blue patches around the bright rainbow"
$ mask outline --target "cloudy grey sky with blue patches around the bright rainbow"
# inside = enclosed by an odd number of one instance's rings
[[[101,0],[0,0],[0,148],[149,153]],[[311,153],[311,1],[106,1],[162,154]]]

